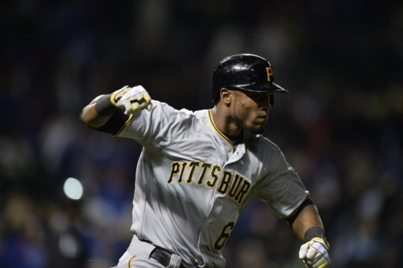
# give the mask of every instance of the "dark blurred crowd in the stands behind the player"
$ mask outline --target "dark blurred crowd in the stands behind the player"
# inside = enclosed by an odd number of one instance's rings
[[[403,3],[4,1],[0,37],[1,267],[116,263],[142,148],[86,128],[81,109],[125,84],[211,108],[214,67],[236,53],[267,58],[290,91],[264,135],[318,206],[331,267],[403,263]],[[64,195],[68,177],[82,199]],[[251,200],[223,254],[228,268],[297,268],[300,244]]]

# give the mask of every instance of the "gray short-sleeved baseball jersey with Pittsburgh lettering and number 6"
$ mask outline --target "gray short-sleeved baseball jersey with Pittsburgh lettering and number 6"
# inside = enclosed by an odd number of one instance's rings
[[[250,197],[281,218],[308,198],[283,153],[261,135],[237,146],[217,128],[211,110],[176,110],[152,101],[117,134],[143,145],[131,231],[193,265],[222,267],[221,254]]]

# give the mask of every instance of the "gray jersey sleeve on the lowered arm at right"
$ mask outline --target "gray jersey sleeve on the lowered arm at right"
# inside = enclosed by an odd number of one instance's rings
[[[309,198],[309,192],[280,149],[266,166],[254,196],[267,203],[280,218],[288,218]]]

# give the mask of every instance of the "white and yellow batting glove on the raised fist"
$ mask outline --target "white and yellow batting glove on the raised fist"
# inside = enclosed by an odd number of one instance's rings
[[[136,114],[140,110],[151,110],[151,98],[146,89],[141,86],[123,86],[110,96],[110,102],[117,108],[123,109],[125,115]]]

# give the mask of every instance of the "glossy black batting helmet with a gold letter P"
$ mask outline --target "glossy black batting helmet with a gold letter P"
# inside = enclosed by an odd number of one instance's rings
[[[274,83],[270,62],[253,54],[236,54],[220,61],[213,73],[213,102],[218,101],[219,92],[223,87],[254,92],[288,93]]]

